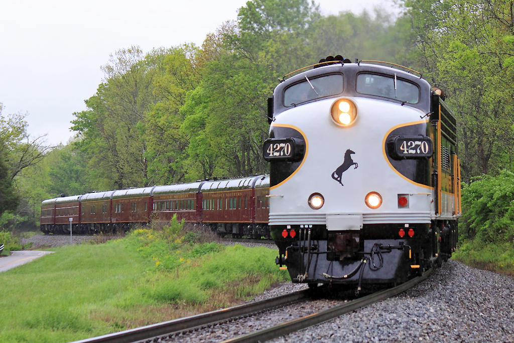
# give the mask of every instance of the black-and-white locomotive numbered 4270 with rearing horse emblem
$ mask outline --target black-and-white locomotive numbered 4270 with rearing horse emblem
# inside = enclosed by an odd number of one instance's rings
[[[322,59],[268,98],[269,227],[292,282],[396,284],[454,251],[456,122],[415,70]]]

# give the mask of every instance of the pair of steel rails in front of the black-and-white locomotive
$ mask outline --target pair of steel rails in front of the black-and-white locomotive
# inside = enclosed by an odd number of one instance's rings
[[[298,318],[295,320],[291,320],[282,324],[279,324],[274,327],[270,327],[267,329],[262,329],[255,331],[250,334],[241,335],[238,337],[234,337],[231,339],[227,339],[223,341],[223,343],[233,343],[233,342],[258,342],[265,341],[272,338],[277,338],[283,335],[287,335],[291,332],[295,332],[301,329],[305,329],[309,326],[313,326],[324,321],[336,318],[340,315],[343,315],[348,312],[355,311],[364,306],[370,305],[374,302],[393,297],[399,293],[402,293],[409,288],[413,287],[417,283],[425,280],[432,269],[427,270],[422,276],[411,279],[405,283],[402,283],[398,286],[388,288],[387,290],[379,291],[372,293],[370,295],[366,295],[348,302],[345,302],[341,305],[334,306],[331,309],[320,311],[314,314],[307,315],[302,318]],[[83,339],[77,341],[75,343],[94,343],[94,342],[108,342],[108,343],[118,343],[118,342],[128,342],[128,341],[138,341],[138,340],[150,340],[153,337],[168,335],[175,332],[183,332],[183,331],[192,331],[195,329],[200,329],[201,327],[215,324],[217,322],[222,322],[230,319],[234,319],[236,317],[247,316],[252,313],[262,312],[266,310],[270,310],[273,308],[277,308],[278,306],[285,306],[287,304],[291,304],[293,302],[297,302],[300,300],[304,300],[309,298],[309,291],[299,291],[295,293],[286,294],[283,296],[274,297],[271,299],[266,299],[262,301],[256,301],[244,305],[233,306],[228,309],[222,309],[217,311],[212,311],[208,313],[203,313],[195,316],[190,316],[186,318],[180,318],[175,320],[170,320],[162,323],[152,324],[150,326],[141,327],[132,330],[126,330],[121,332],[116,332],[112,334],[107,334],[103,336]]]

